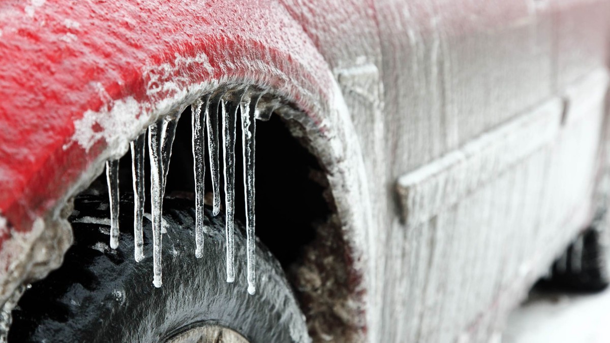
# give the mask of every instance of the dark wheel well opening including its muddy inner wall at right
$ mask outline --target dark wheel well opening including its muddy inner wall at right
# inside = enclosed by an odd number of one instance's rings
[[[239,125],[237,130],[235,150],[239,152],[237,147],[242,144]],[[189,107],[178,123],[166,197],[194,201],[191,131]],[[359,280],[354,280],[350,269],[351,251],[343,237],[328,171],[310,150],[305,136],[303,127],[293,119],[285,120],[274,114],[268,121],[257,121],[256,235],[287,274],[307,317],[312,338],[332,336],[352,340],[359,337],[359,331],[345,313],[353,311],[350,300]],[[245,222],[242,163],[241,154],[236,154],[235,218]],[[148,169],[146,173],[146,189],[150,189]],[[209,174],[207,168],[206,194],[207,189],[212,189]],[[223,177],[220,179],[223,193]],[[131,155],[127,153],[120,160],[120,192],[132,193],[131,187]],[[107,193],[106,175],[100,175],[87,191]],[[224,194],[221,197],[224,199]],[[149,202],[145,211],[150,211]]]

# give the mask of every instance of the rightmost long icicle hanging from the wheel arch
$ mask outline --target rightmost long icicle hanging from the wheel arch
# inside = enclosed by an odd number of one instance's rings
[[[256,292],[256,261],[254,260],[254,136],[256,135],[256,105],[260,94],[242,104],[243,185],[246,199],[246,255],[248,259],[248,293]]]

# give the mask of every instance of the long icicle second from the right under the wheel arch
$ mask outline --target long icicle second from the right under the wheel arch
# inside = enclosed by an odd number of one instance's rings
[[[223,157],[224,157],[224,210],[227,282],[235,281],[235,240],[233,222],[235,214],[235,117],[245,90],[234,93],[235,99],[229,101],[223,111]]]

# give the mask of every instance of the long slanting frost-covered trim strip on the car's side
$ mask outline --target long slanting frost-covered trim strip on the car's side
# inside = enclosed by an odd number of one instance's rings
[[[400,177],[404,222],[413,227],[428,220],[550,143],[559,132],[561,113],[561,101],[553,99]]]

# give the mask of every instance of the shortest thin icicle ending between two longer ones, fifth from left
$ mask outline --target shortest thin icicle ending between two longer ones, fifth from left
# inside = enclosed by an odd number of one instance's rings
[[[212,191],[214,193],[212,214],[220,213],[220,166],[218,157],[218,107],[224,113],[223,93],[216,94],[209,103],[207,111],[207,145],[212,172]]]

